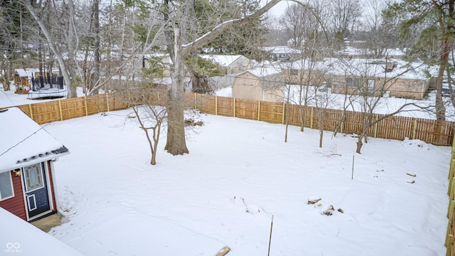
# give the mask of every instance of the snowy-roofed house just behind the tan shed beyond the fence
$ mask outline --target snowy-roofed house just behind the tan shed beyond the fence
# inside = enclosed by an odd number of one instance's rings
[[[200,58],[212,61],[224,70],[225,75],[252,69],[252,61],[244,55],[209,55],[200,54]]]

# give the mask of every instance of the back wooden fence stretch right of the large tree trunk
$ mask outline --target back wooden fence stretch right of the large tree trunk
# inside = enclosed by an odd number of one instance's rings
[[[280,102],[242,100],[214,95],[187,94],[186,107],[197,108],[208,113],[226,117],[240,117],[270,123],[300,126],[319,129],[319,118],[323,117],[323,129],[345,134],[360,134],[364,113],[343,110],[323,110],[318,113],[316,107],[299,107]],[[301,114],[302,113],[302,114]],[[302,118],[303,117],[303,118]],[[378,120],[383,114],[373,114]],[[402,140],[420,139],[423,142],[438,146],[451,146],[454,140],[455,122],[419,119],[414,117],[392,116],[382,119],[368,130],[368,137]]]

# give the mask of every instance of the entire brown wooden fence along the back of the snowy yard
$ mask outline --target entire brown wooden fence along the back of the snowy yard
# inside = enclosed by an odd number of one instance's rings
[[[166,93],[158,95],[161,98],[159,102],[166,102]],[[185,94],[185,106],[208,114],[240,117],[275,124],[284,124],[289,119],[289,124],[300,126],[302,119],[304,119],[304,127],[314,129],[319,129],[319,118],[322,117],[322,114],[319,114],[315,107],[304,108],[281,102],[242,100],[196,93]],[[122,110],[129,107],[129,105],[125,97],[120,94],[102,94],[39,102],[17,107],[26,112],[38,124],[45,124],[99,112]],[[363,115],[361,112],[324,110],[323,129],[326,131],[337,130],[345,134],[359,134],[362,132],[361,121]],[[373,115],[375,119],[382,117],[382,114]],[[454,124],[454,122],[432,119],[393,116],[382,119],[371,127],[367,136],[398,140],[407,137],[420,139],[423,142],[439,146],[451,146],[454,139]]]

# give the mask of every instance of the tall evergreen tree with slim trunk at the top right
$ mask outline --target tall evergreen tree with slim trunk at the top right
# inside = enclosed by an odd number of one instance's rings
[[[404,0],[400,4],[392,4],[385,11],[386,16],[400,17],[402,41],[412,41],[418,36],[408,57],[419,58],[429,65],[439,65],[435,102],[438,120],[444,120],[446,114],[442,101],[442,80],[446,70],[451,68],[449,55],[455,36],[454,4],[455,0]]]

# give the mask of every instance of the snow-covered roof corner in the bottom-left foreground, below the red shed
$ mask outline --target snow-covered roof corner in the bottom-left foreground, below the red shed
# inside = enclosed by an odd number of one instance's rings
[[[69,245],[4,208],[0,208],[0,226],[0,252],[4,253],[2,255],[37,255],[37,252],[47,252],[48,255],[82,256]]]

